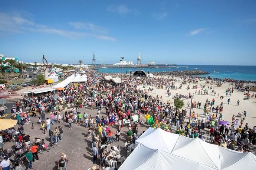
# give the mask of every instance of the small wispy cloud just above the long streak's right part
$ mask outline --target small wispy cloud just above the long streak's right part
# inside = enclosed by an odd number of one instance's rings
[[[95,24],[92,24],[92,23],[70,22],[69,24],[79,30],[89,30],[89,31],[95,31],[95,32],[99,32],[99,33],[106,33],[105,28],[96,26]]]

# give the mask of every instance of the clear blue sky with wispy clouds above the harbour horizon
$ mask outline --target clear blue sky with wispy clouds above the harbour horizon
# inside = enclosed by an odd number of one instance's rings
[[[0,54],[40,62],[256,65],[256,1],[1,1]]]

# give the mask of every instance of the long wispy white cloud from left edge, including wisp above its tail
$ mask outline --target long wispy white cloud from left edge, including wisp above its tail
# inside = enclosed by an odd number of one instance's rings
[[[101,31],[101,27],[92,23],[73,23],[76,28],[87,29],[88,31]],[[106,35],[98,35],[90,32],[68,31],[64,29],[56,29],[45,25],[37,24],[31,20],[21,17],[20,14],[0,13],[0,31],[25,33],[26,31],[62,35],[68,38],[77,39],[84,37],[95,37],[101,40],[116,41],[115,38]],[[103,33],[103,32],[101,32]]]

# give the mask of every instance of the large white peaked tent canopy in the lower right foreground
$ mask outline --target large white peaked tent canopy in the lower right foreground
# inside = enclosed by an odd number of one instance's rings
[[[149,128],[119,170],[255,170],[256,156]]]

